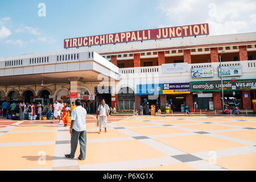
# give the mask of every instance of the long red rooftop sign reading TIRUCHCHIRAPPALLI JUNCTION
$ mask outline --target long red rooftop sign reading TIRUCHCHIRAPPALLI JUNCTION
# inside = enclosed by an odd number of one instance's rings
[[[64,48],[209,35],[208,23],[64,39]]]

